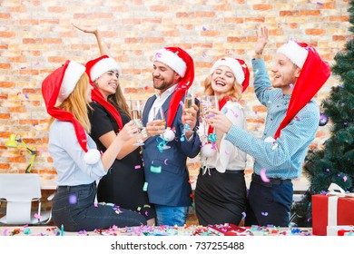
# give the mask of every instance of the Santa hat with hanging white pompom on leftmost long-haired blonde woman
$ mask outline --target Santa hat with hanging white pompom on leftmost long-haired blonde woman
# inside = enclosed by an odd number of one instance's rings
[[[84,127],[71,112],[64,111],[55,106],[57,102],[63,103],[73,93],[76,83],[84,74],[84,71],[84,65],[67,60],[62,67],[56,69],[44,79],[42,83],[42,95],[46,111],[51,116],[60,121],[73,122],[77,141],[86,152],[84,160],[87,164],[94,164],[100,160],[101,154],[95,149],[87,149],[87,136]]]

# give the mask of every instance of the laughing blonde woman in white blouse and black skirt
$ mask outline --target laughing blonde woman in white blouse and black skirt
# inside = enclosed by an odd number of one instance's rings
[[[241,59],[222,57],[212,65],[211,73],[204,81],[204,94],[216,95],[219,110],[242,129],[246,129],[246,118],[240,99],[249,80],[250,72]],[[201,100],[201,108],[203,103]],[[208,117],[202,112],[201,115]],[[246,153],[224,140],[222,134],[213,132],[205,119],[199,132],[203,137],[202,168],[194,196],[199,223],[204,226],[239,225],[246,207]]]

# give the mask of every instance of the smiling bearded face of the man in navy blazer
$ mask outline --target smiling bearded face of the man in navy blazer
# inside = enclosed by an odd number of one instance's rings
[[[172,68],[166,64],[155,61],[153,62],[152,79],[153,88],[159,90],[160,93],[163,93],[172,87],[173,84],[178,83],[181,79],[181,76],[174,72]]]

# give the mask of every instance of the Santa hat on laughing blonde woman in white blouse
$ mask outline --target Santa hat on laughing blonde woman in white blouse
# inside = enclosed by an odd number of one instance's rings
[[[225,56],[212,65],[211,74],[214,73],[219,66],[227,66],[231,69],[237,83],[241,84],[243,93],[250,84],[250,70],[247,64],[241,59]]]

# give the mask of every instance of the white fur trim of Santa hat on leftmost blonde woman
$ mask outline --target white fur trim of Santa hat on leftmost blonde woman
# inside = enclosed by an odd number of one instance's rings
[[[84,74],[85,67],[83,64],[78,64],[74,61],[70,61],[67,66],[62,85],[58,94],[58,102],[63,103],[64,100],[69,97],[70,93],[73,93],[76,83],[80,77]]]

